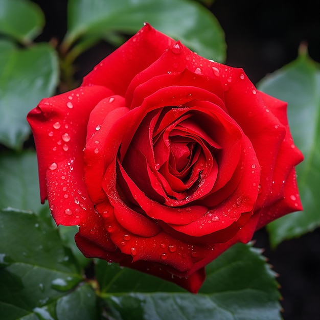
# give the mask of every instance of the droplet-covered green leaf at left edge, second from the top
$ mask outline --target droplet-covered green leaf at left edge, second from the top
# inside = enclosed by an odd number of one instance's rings
[[[58,59],[47,43],[18,49],[0,41],[0,143],[21,149],[30,134],[27,113],[54,93]]]

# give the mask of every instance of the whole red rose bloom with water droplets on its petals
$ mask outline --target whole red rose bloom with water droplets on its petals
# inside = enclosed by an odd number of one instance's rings
[[[30,111],[41,201],[86,257],[197,292],[204,266],[302,210],[286,103],[149,25]]]

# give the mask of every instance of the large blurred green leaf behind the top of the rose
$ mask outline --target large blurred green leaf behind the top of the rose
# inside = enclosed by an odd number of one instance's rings
[[[203,5],[187,0],[70,0],[64,45],[70,47],[83,36],[112,39],[115,32],[133,34],[145,21],[201,56],[225,60],[226,45],[219,22]]]

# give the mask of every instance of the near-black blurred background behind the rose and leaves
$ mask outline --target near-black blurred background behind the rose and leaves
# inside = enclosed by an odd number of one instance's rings
[[[33,0],[45,14],[47,24],[39,41],[62,40],[66,31],[66,0]],[[88,0],[90,1],[90,0]],[[317,2],[216,0],[209,8],[225,32],[226,64],[242,67],[257,83],[291,62],[302,42],[312,59],[320,62],[320,11]],[[99,44],[76,63],[81,79],[111,48]],[[320,182],[320,181],[319,181]],[[320,320],[320,231],[287,240],[270,250],[265,230],[255,234],[256,247],[279,273],[285,320]],[[221,319],[223,320],[223,319]]]

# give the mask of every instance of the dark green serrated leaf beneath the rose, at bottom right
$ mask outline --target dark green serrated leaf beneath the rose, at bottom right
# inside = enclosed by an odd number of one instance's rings
[[[103,264],[97,277],[106,310],[115,319],[164,320],[172,314],[176,320],[281,319],[275,273],[250,245],[237,244],[208,265],[196,295],[138,271],[117,266],[109,271]]]

